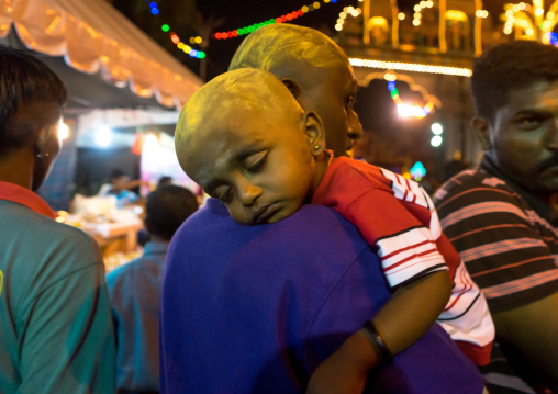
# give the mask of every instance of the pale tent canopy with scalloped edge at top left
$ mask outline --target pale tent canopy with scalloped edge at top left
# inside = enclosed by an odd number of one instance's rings
[[[103,0],[3,0],[0,38],[12,26],[26,48],[164,108],[180,109],[203,83]]]

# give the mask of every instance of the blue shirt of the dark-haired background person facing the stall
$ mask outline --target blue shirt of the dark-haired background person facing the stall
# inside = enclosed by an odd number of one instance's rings
[[[168,243],[147,243],[142,257],[107,274],[119,390],[159,390],[159,292],[167,248]]]

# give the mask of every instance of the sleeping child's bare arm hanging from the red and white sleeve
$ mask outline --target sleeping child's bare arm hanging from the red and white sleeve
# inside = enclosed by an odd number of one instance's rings
[[[372,320],[392,356],[413,345],[436,322],[449,300],[447,271],[398,289]],[[306,393],[361,393],[368,372],[381,364],[380,350],[360,329],[312,374]]]

